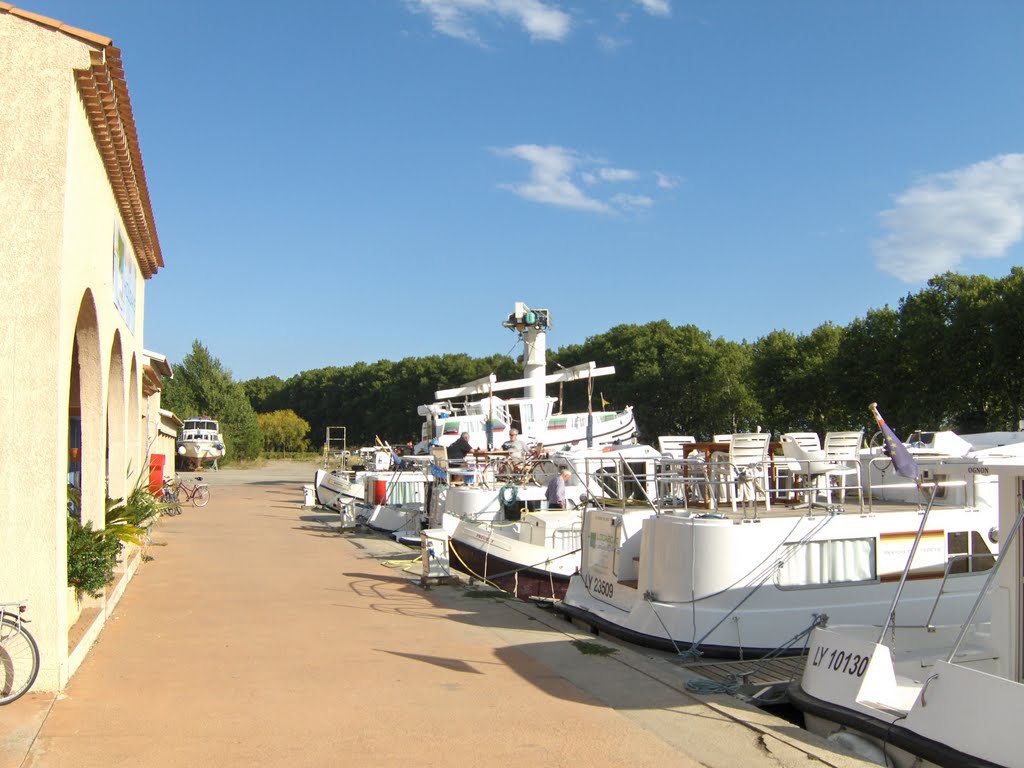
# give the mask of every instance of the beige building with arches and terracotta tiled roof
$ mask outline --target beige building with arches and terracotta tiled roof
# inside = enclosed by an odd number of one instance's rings
[[[0,601],[29,601],[35,689],[57,690],[139,559],[72,631],[69,480],[102,527],[106,494],[134,487],[176,422],[159,401],[170,367],[142,345],[164,260],[109,38],[0,2]]]

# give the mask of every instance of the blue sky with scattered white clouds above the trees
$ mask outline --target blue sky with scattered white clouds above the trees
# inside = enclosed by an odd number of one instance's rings
[[[753,341],[1024,262],[1018,0],[15,4],[122,49],[145,346],[238,380],[507,352],[515,301],[553,348]]]

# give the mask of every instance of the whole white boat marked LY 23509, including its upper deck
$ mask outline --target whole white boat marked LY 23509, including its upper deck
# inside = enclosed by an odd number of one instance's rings
[[[888,459],[879,450],[862,461],[882,466]],[[946,492],[903,590],[901,623],[924,626],[963,617],[977,594],[997,551],[997,485],[977,457],[919,461],[944,478]],[[795,494],[769,485],[761,508],[754,495],[741,508],[701,510],[687,505],[707,497],[707,485],[687,483],[707,483],[708,475],[670,477],[666,485],[677,490],[664,496],[682,509],[588,510],[580,573],[557,607],[599,631],[677,652],[799,653],[815,626],[876,621],[895,594],[924,507],[920,495],[909,503],[883,501],[889,485],[876,482],[850,508],[797,509],[794,497],[814,497],[813,486]],[[857,490],[847,485],[845,493],[849,499]],[[945,578],[961,554],[979,557]]]

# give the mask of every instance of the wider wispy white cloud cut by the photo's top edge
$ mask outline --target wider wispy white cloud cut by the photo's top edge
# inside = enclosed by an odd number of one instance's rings
[[[520,25],[534,40],[564,40],[571,28],[565,11],[543,0],[407,0],[410,8],[428,13],[437,32],[479,43],[474,20],[497,16]]]

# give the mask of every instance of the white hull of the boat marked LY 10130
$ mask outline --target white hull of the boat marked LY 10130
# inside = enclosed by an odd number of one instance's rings
[[[961,645],[955,664],[946,660],[959,631],[937,628],[944,642],[897,632],[891,648],[866,627],[815,630],[790,701],[809,730],[857,734],[898,768],[1021,765],[1010,734],[1024,688],[993,674],[999,659],[987,645],[990,630]]]

